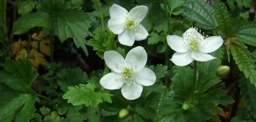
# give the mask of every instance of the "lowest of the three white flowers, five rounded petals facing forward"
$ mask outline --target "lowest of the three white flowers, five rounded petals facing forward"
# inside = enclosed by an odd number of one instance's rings
[[[104,60],[113,72],[104,75],[100,84],[110,90],[121,88],[123,97],[128,100],[139,98],[143,90],[142,85],[149,86],[155,83],[155,73],[144,68],[147,53],[143,47],[131,49],[125,59],[116,51],[106,51]]]

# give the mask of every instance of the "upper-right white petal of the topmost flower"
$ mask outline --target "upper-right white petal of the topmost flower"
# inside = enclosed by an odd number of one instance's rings
[[[137,6],[131,9],[129,14],[135,18],[136,22],[141,22],[145,18],[147,10],[146,6]]]

